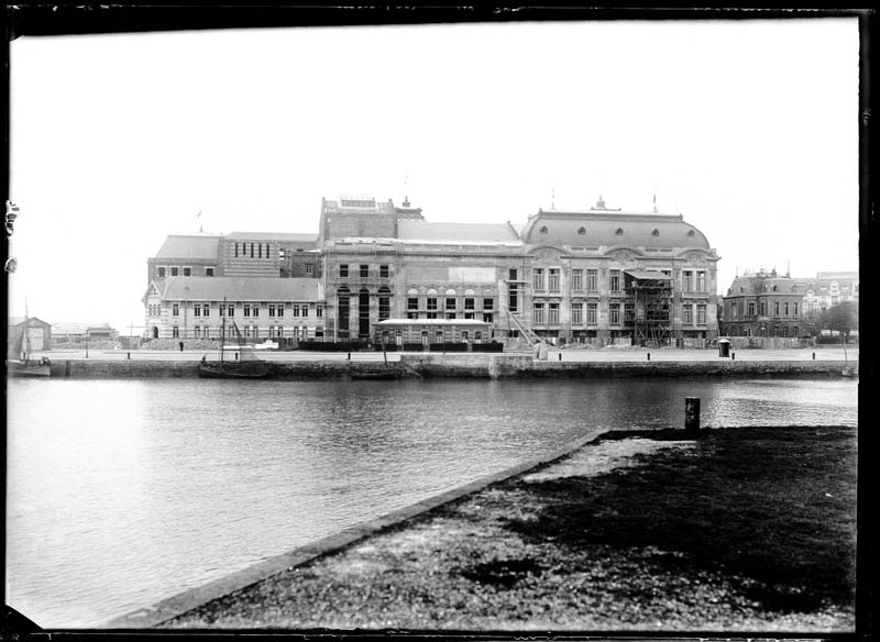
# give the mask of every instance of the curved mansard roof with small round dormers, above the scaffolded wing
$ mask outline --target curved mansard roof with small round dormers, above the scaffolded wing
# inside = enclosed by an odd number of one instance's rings
[[[631,247],[698,247],[711,250],[708,240],[681,214],[539,210],[529,217],[522,241],[530,245]]]

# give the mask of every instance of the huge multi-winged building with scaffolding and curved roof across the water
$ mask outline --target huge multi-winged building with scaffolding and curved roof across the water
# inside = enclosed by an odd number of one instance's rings
[[[413,341],[419,328],[432,343],[471,342],[479,333],[479,341],[507,343],[527,335],[556,344],[671,345],[718,332],[718,256],[706,236],[681,215],[609,209],[601,197],[583,211],[539,210],[525,225],[433,222],[407,199],[397,207],[342,197],[321,200],[317,236],[180,239],[169,236],[147,262],[148,336],[174,336],[169,307],[176,305],[179,317],[182,309],[220,305],[222,287],[209,291],[186,280],[197,269],[205,270],[202,280],[244,279],[233,288],[238,298],[248,279],[261,279],[253,292],[261,292],[258,300],[246,305],[252,314],[256,306],[261,320],[275,313],[265,324],[249,317],[255,340],[378,342],[394,329]],[[297,289],[298,299],[280,283],[272,287],[272,280],[292,279],[320,287]],[[170,292],[177,299],[167,298]],[[321,310],[305,331],[293,317],[294,306],[304,305]],[[180,332],[178,324],[177,336],[190,336]]]

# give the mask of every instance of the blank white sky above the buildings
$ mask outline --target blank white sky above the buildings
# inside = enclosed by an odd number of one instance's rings
[[[858,53],[855,18],[19,38],[10,312],[127,332],[166,235],[317,233],[340,193],[502,223],[657,193],[719,292],[857,269]]]

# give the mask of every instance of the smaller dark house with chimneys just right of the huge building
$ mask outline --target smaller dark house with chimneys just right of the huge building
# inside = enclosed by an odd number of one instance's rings
[[[737,276],[724,297],[721,331],[729,336],[806,336],[805,292],[802,279],[776,269]]]

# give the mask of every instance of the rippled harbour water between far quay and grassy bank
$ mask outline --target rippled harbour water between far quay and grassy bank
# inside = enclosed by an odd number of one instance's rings
[[[849,379],[12,379],[7,602],[96,627],[594,428],[857,422]]]

